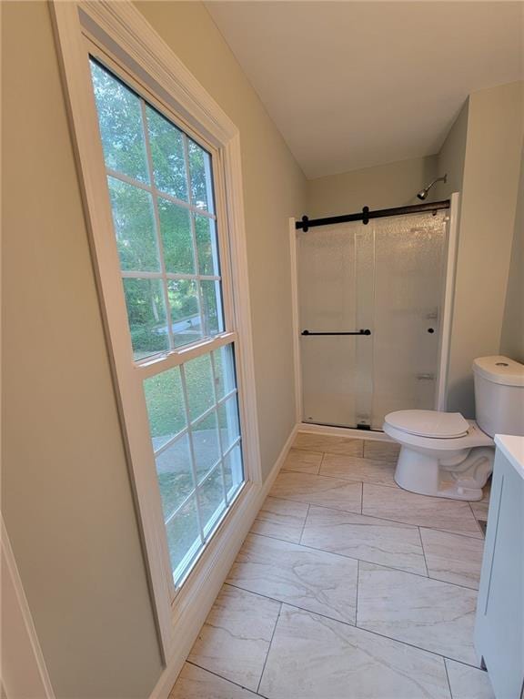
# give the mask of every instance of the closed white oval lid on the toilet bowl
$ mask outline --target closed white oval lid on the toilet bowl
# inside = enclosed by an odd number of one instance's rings
[[[463,437],[469,430],[469,423],[459,412],[397,410],[388,413],[385,420],[397,430],[434,439]]]

